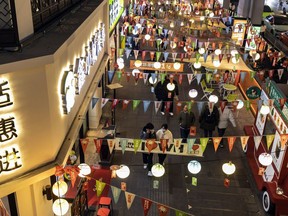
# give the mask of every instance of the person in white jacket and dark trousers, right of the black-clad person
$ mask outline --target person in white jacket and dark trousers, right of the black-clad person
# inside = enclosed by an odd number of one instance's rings
[[[233,127],[236,127],[235,118],[231,109],[226,105],[224,110],[222,111],[221,107],[219,110],[219,123],[218,123],[218,136],[223,137],[225,134],[225,130],[228,127],[228,122],[230,121]],[[223,148],[223,139],[220,142],[220,147]]]

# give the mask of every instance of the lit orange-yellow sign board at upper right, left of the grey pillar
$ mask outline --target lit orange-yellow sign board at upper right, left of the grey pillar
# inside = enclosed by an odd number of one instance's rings
[[[236,45],[242,46],[245,36],[246,24],[247,24],[246,19],[234,18],[231,39],[236,42]]]

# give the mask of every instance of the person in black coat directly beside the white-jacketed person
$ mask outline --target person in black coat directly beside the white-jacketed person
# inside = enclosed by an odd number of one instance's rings
[[[212,137],[212,133],[219,123],[219,111],[214,105],[210,112],[208,105],[204,107],[199,116],[200,128],[204,130],[204,137]]]

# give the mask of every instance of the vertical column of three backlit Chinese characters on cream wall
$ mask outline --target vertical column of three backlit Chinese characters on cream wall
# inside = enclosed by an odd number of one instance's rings
[[[0,83],[0,108],[4,109],[13,105],[10,97],[10,88],[8,81]],[[8,116],[9,113],[5,113]],[[0,143],[4,143],[18,137],[15,118],[13,116],[0,116]],[[2,146],[0,146],[2,147]],[[16,147],[0,148],[0,174],[18,169],[22,166],[20,152]]]

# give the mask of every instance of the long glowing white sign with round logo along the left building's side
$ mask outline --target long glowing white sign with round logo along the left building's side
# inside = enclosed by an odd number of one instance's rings
[[[97,61],[100,51],[104,48],[105,26],[100,23],[89,41],[89,46],[85,46],[85,56],[75,59],[75,68],[70,65],[68,71],[64,71],[61,80],[62,109],[64,114],[68,114],[75,104],[76,95],[79,95],[85,85],[86,77],[89,75],[90,66]]]

